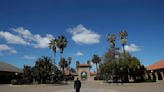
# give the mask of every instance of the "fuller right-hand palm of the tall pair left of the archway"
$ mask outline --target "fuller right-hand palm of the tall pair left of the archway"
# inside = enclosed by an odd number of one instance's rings
[[[60,61],[62,61],[62,54],[63,54],[64,48],[67,46],[67,43],[68,41],[64,35],[61,35],[58,37],[57,47],[60,50]]]

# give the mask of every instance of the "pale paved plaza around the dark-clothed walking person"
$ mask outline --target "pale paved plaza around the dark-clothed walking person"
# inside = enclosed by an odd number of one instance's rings
[[[164,81],[156,83],[113,84],[101,81],[82,82],[81,92],[163,92]],[[0,92],[75,92],[73,82],[67,85],[0,85]]]

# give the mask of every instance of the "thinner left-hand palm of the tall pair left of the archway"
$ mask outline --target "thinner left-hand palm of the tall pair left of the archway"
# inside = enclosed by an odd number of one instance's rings
[[[56,60],[57,45],[58,45],[58,39],[55,38],[55,39],[50,40],[49,48],[52,49],[54,52],[54,64]]]

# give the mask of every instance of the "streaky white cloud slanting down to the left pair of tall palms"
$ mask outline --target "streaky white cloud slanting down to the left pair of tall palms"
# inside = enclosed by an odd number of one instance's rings
[[[23,27],[12,28],[14,32],[17,32],[22,38],[30,43],[35,48],[47,48],[50,42],[50,39],[53,39],[53,35],[46,34],[45,37],[42,37],[39,34],[32,34],[28,29]]]

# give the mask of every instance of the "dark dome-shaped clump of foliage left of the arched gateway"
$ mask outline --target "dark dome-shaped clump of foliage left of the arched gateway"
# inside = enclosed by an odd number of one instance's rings
[[[25,65],[23,71],[25,83],[57,83],[63,80],[62,72],[52,64],[52,59],[46,56],[38,58],[33,67]]]

